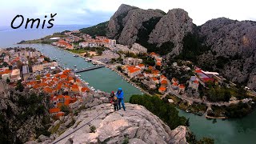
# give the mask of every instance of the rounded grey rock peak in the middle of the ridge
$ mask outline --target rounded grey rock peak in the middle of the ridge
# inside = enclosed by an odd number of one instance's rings
[[[182,39],[193,30],[193,22],[188,13],[182,9],[173,9],[163,16],[150,34],[150,43],[161,45],[173,42],[171,54],[178,55],[182,50]]]

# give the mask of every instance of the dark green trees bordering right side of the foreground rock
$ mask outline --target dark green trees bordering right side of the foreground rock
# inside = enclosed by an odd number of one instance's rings
[[[170,129],[175,129],[177,126],[184,126],[186,123],[185,117],[178,116],[178,110],[173,105],[163,102],[160,98],[148,95],[133,95],[130,98],[130,103],[145,106],[153,114],[157,115],[162,121],[166,122]]]

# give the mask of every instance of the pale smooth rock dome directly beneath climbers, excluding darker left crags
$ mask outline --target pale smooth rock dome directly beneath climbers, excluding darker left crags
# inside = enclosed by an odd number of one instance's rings
[[[187,143],[185,126],[170,130],[143,106],[126,103],[126,111],[114,111],[110,104],[102,104],[82,111],[75,119],[74,126],[54,142],[63,138],[58,143],[122,143],[125,139],[130,143]]]

